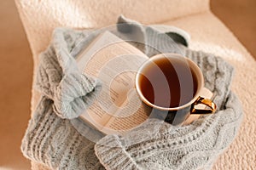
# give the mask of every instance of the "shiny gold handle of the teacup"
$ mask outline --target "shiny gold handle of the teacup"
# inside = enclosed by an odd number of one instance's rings
[[[195,105],[207,105],[209,109],[195,109]],[[212,102],[211,99],[206,99],[201,96],[199,96],[193,105],[191,106],[190,114],[198,114],[198,115],[206,115],[206,114],[212,114],[216,111],[217,105]]]

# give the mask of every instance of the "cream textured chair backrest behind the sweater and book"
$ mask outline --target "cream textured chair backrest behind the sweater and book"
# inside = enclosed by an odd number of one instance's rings
[[[15,0],[35,62],[58,26],[113,25],[119,14],[155,24],[209,10],[209,0]]]

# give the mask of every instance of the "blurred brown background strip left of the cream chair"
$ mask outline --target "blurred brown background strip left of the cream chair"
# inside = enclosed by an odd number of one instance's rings
[[[14,0],[0,0],[0,169],[30,169],[20,142],[30,116],[32,54]]]

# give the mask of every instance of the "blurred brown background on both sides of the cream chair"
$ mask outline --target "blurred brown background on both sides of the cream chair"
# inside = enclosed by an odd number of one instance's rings
[[[213,0],[211,6],[255,57],[256,2]],[[0,23],[0,169],[29,169],[20,140],[30,116],[32,54],[14,1],[0,0]]]

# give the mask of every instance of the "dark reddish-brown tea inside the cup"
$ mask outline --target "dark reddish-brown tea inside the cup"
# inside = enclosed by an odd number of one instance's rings
[[[154,105],[178,107],[189,103],[198,88],[198,80],[183,59],[160,58],[144,67],[139,84],[143,96]]]

